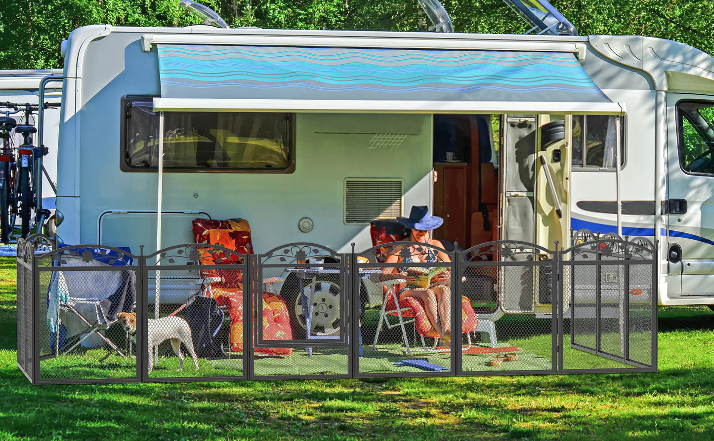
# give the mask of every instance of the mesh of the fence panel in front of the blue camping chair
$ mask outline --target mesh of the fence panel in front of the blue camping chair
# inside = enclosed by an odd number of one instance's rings
[[[136,300],[136,270],[62,257],[78,269],[39,273],[40,380],[136,378],[136,360],[117,313]]]

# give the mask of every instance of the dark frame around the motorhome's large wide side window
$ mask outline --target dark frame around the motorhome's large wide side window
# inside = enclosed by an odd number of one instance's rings
[[[129,105],[136,103],[137,101],[153,100],[154,98],[159,98],[156,95],[124,95],[120,100],[120,129],[119,129],[119,170],[122,172],[139,172],[139,173],[158,173],[159,167],[137,167],[136,165],[129,165],[126,158],[126,130],[129,128],[127,112],[129,110]],[[236,113],[246,113],[246,112],[236,112]],[[257,113],[257,112],[255,112]],[[256,168],[241,168],[241,167],[164,167],[164,173],[257,173],[261,175],[266,174],[289,174],[295,172],[296,168],[296,119],[297,113],[295,112],[266,112],[266,113],[281,113],[290,114],[292,120],[290,123],[290,128],[288,129],[288,155],[289,162],[288,167],[283,169],[256,169]]]

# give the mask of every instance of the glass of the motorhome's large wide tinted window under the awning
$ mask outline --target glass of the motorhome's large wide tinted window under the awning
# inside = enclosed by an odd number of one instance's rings
[[[124,165],[159,166],[159,113],[148,100],[126,105]],[[164,167],[286,172],[292,165],[291,113],[164,112]]]

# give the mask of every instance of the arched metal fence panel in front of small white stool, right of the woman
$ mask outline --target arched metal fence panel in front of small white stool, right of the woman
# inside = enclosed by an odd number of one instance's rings
[[[460,374],[556,372],[556,259],[553,251],[526,242],[491,242],[463,251],[462,295],[478,305],[478,325],[474,343],[462,351]],[[543,305],[538,316],[536,303]],[[511,306],[499,310],[498,304]]]

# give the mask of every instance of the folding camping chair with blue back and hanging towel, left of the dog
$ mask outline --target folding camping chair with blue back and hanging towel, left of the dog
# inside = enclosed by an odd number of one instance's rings
[[[128,248],[124,248],[129,253]],[[119,256],[114,250],[72,249],[53,262],[54,266],[130,266],[133,259]],[[54,356],[66,355],[82,343],[92,346],[88,339],[99,337],[119,356],[126,358],[119,347],[101,331],[118,320],[116,314],[130,312],[136,303],[136,274],[134,271],[53,271],[47,293],[47,325],[50,328],[50,347]],[[63,323],[64,316],[64,323]],[[64,349],[69,338],[79,340]]]

